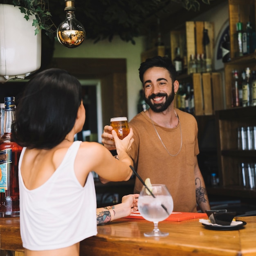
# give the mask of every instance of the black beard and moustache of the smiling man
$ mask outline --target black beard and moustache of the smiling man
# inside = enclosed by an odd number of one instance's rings
[[[164,103],[152,103],[150,101],[150,99],[154,99],[155,97],[165,97],[166,101]],[[145,94],[144,94],[144,99],[146,101],[146,103],[148,103],[148,106],[150,106],[150,109],[153,110],[154,112],[163,112],[164,110],[166,110],[168,108],[168,106],[171,105],[171,103],[173,102],[174,99],[174,90],[172,90],[170,95],[167,95],[166,93],[157,93],[157,94],[151,94],[148,96],[148,98],[146,98]]]

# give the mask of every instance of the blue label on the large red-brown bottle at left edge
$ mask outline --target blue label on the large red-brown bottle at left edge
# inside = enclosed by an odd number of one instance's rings
[[[4,193],[7,187],[8,164],[12,162],[11,149],[0,150],[0,193]]]

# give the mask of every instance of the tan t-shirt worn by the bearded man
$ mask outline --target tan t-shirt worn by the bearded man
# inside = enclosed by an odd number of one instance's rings
[[[135,170],[142,180],[150,178],[152,184],[165,184],[173,197],[173,211],[196,212],[195,156],[199,154],[198,126],[193,115],[175,109],[179,124],[175,128],[164,128],[154,123],[160,141],[150,118],[141,112],[130,122],[134,131],[134,143],[130,151]],[[180,129],[181,128],[181,129]],[[136,178],[135,193],[142,184]]]

